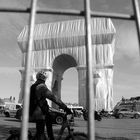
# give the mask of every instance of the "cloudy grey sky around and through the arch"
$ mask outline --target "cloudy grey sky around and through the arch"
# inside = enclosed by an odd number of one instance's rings
[[[1,0],[0,7],[28,7],[28,0]],[[81,0],[40,0],[39,7],[57,9],[83,9]],[[131,0],[92,0],[93,11],[132,14]],[[21,51],[17,37],[23,27],[28,24],[27,14],[0,13],[0,97],[16,97],[20,92]],[[73,17],[51,15],[37,16],[36,23],[46,23]],[[114,54],[113,99],[114,104],[122,96],[130,98],[140,95],[140,55],[137,30],[134,21],[112,20],[116,28],[116,44]],[[73,75],[73,76],[71,76]],[[75,78],[73,80],[72,78]],[[62,100],[78,101],[78,75],[75,68],[64,73],[62,81]],[[74,82],[71,82],[73,80]],[[67,95],[69,96],[65,96]],[[71,98],[68,98],[71,97]]]

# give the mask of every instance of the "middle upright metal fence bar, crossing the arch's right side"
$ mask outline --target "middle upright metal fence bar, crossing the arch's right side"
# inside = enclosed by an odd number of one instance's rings
[[[91,10],[90,0],[85,2],[85,47],[86,47],[86,91],[88,103],[88,139],[95,139],[94,126],[94,90],[93,90],[93,59],[92,59],[92,43],[91,43]]]

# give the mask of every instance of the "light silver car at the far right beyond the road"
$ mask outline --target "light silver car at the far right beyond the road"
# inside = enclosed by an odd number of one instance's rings
[[[122,119],[124,117],[138,119],[140,117],[140,112],[134,111],[129,108],[116,109],[114,111],[114,117],[119,119]]]

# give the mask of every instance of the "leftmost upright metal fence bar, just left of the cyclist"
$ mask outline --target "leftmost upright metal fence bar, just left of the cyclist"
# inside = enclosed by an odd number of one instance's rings
[[[31,13],[30,13],[30,24],[29,24],[29,33],[28,33],[28,48],[26,56],[26,65],[25,65],[25,80],[23,85],[23,120],[21,127],[21,140],[28,139],[28,118],[29,118],[29,98],[30,98],[30,74],[31,74],[31,52],[33,46],[33,33],[35,25],[35,16],[36,16],[36,6],[37,0],[31,1]]]

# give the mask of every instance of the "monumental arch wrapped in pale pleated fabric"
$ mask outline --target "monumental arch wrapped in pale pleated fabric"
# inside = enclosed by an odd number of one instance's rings
[[[113,105],[113,56],[115,46],[115,28],[110,19],[92,18],[92,52],[95,109],[111,110]],[[27,52],[28,26],[18,37],[22,51],[22,67],[25,66]],[[46,82],[50,90],[56,90],[61,98],[61,80],[64,72],[75,67],[78,72],[79,105],[86,107],[86,53],[85,23],[83,19],[37,24],[34,29],[32,51],[32,78],[35,81],[37,71],[48,71]],[[21,72],[21,92],[24,70]]]

